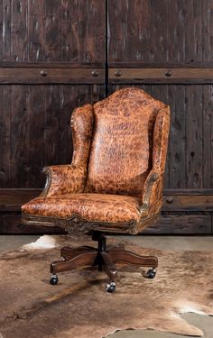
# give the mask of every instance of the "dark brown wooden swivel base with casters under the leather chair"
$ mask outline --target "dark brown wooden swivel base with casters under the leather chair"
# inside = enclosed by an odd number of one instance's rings
[[[112,293],[116,290],[117,270],[115,263],[150,267],[152,269],[147,270],[145,277],[149,279],[155,277],[155,268],[158,266],[158,259],[155,256],[139,256],[131,251],[125,251],[123,244],[110,245],[106,248],[106,237],[102,233],[94,232],[92,239],[98,242],[97,249],[80,246],[75,249],[63,247],[60,250],[60,256],[63,257],[63,260],[51,263],[51,285],[58,283],[57,272],[97,266],[100,271],[104,270],[106,272],[108,277],[106,291]]]

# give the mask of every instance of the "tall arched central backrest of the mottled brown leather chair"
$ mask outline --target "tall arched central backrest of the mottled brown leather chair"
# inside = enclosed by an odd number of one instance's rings
[[[140,196],[153,167],[153,129],[167,106],[144,90],[117,90],[94,105],[87,192]]]

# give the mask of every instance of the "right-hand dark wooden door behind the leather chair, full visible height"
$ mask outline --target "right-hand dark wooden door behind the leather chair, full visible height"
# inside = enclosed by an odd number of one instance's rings
[[[213,1],[108,0],[109,93],[137,86],[171,105],[159,224],[212,233]]]

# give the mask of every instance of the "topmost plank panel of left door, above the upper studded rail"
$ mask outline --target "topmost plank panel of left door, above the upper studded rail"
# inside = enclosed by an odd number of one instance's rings
[[[3,0],[1,61],[101,62],[105,1]]]

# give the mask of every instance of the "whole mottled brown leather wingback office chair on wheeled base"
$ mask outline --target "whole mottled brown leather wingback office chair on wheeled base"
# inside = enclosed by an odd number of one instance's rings
[[[149,267],[146,276],[154,278],[156,257],[107,248],[104,234],[141,233],[158,219],[169,125],[169,106],[136,87],[75,109],[72,163],[44,169],[46,186],[23,206],[23,224],[88,233],[98,245],[62,248],[64,260],[51,263],[51,284],[57,272],[97,265],[106,271],[106,290],[114,292],[116,262]]]

